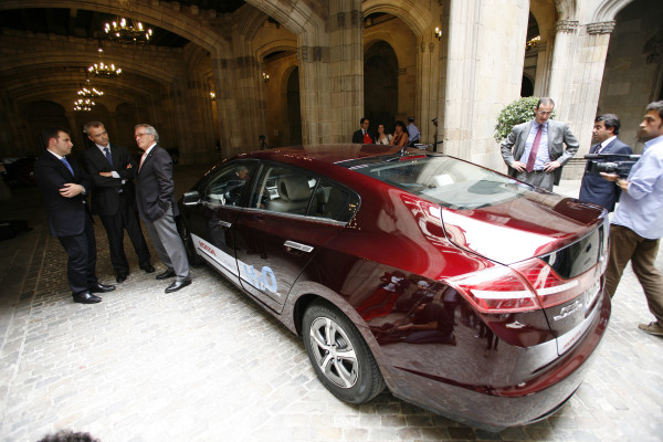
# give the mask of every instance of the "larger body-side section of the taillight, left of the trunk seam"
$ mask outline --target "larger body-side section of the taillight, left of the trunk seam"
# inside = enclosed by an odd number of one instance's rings
[[[498,265],[448,281],[482,313],[540,309],[536,294],[523,276]]]

